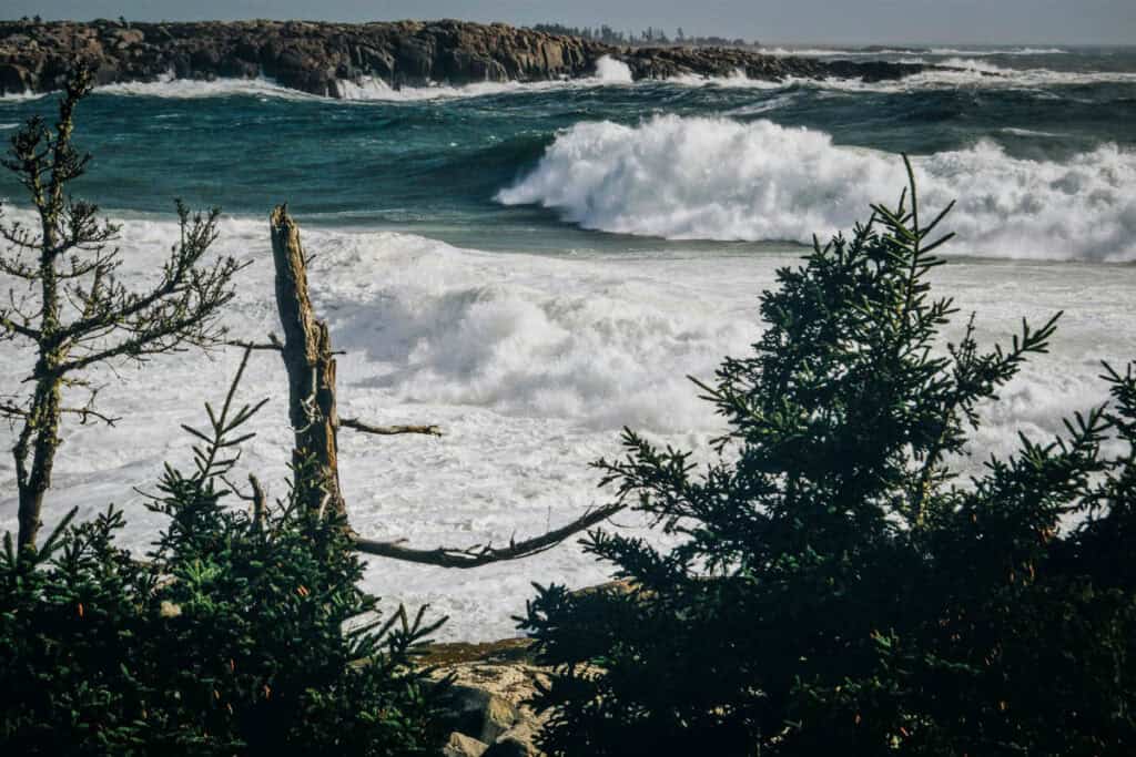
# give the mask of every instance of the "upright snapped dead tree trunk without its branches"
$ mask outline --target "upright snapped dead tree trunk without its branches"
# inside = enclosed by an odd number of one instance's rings
[[[308,261],[300,227],[277,205],[269,217],[276,264],[276,308],[284,327],[281,351],[287,369],[289,420],[294,486],[309,508],[346,514],[340,490],[335,413],[335,358],[327,323],[317,320],[308,296]]]

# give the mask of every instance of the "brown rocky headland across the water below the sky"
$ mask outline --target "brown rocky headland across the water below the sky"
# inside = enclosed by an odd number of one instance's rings
[[[200,22],[133,24],[0,22],[0,94],[60,87],[76,58],[99,84],[170,77],[275,79],[341,98],[343,82],[378,78],[392,87],[533,82],[592,76],[604,57],[632,76],[732,76],[895,79],[920,65],[818,61],[726,48],[616,48],[504,24],[458,20],[331,24]]]

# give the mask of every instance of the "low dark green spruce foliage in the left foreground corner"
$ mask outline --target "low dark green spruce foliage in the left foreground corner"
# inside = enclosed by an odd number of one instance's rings
[[[256,410],[231,392],[190,429],[194,470],[158,483],[169,522],[145,562],[115,546],[114,510],[72,513],[37,555],[8,535],[0,754],[431,754],[438,687],[415,654],[441,622],[378,619],[334,514],[226,503]]]

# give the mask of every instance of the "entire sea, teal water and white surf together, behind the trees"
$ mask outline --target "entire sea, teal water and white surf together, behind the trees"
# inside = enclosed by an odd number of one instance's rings
[[[593,79],[392,91],[327,100],[266,81],[97,90],[77,141],[95,157],[75,192],[123,222],[123,276],[142,284],[174,242],[174,197],[224,210],[215,247],[251,261],[226,322],[278,330],[267,215],[287,202],[315,254],[314,296],[340,359],[341,414],[437,423],[438,439],[341,435],[352,522],[424,548],[504,544],[611,496],[588,466],[627,426],[701,449],[721,430],[687,376],[709,379],[757,340],[760,293],[822,239],[895,200],[912,157],[925,208],[957,201],[939,294],[982,339],[1064,311],[1049,355],[996,403],[966,474],[1103,402],[1101,361],[1136,356],[1136,49],[930,48],[778,53],[950,66],[900,82]],[[0,136],[55,98],[0,100]],[[0,176],[9,218],[27,218]],[[10,283],[0,278],[7,293]],[[7,294],[5,295],[7,296]],[[161,521],[134,487],[189,462],[235,350],[179,353],[97,375],[114,428],[66,430],[48,522],[123,507],[127,544]],[[30,359],[0,343],[0,386]],[[258,353],[242,395],[270,397],[243,465],[285,490],[286,382]],[[11,434],[0,428],[0,446]],[[0,529],[15,528],[0,456]],[[613,527],[648,533],[632,515]],[[650,538],[662,539],[659,535]],[[531,581],[607,579],[574,544],[456,573],[369,562],[387,603],[451,616],[440,637],[516,634]]]

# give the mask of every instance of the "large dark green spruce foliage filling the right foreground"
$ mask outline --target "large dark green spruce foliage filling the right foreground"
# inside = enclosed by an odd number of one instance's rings
[[[728,422],[713,462],[628,430],[598,463],[679,544],[596,531],[629,591],[537,587],[550,754],[1136,752],[1131,369],[1063,438],[959,480],[979,404],[1056,318],[943,345],[945,211],[921,225],[913,179],[872,210],[778,272],[753,353],[699,385]]]

